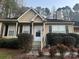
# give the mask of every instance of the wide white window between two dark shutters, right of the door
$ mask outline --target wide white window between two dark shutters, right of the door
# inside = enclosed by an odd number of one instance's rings
[[[53,33],[66,33],[65,25],[52,25]]]

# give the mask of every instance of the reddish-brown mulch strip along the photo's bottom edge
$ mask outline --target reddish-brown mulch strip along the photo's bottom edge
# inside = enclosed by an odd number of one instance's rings
[[[21,54],[18,56],[15,56],[12,59],[61,59],[61,57],[49,57],[49,56],[43,56],[43,57],[38,57],[38,56],[33,56],[33,55],[26,55],[26,54]],[[79,57],[64,57],[64,59],[79,59]]]

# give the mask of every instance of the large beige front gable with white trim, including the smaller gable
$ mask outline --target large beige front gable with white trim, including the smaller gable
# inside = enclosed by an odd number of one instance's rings
[[[18,22],[42,21],[41,16],[33,9],[29,9],[18,18]]]

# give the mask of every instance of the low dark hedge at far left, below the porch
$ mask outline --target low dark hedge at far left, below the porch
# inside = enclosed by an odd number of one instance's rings
[[[0,48],[19,49],[19,43],[16,38],[0,38]]]

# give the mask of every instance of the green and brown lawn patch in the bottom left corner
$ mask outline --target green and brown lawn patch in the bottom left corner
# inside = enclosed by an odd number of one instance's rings
[[[18,54],[18,50],[0,49],[0,59],[11,59]]]

